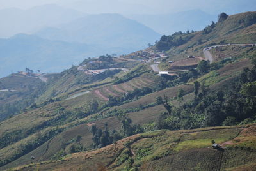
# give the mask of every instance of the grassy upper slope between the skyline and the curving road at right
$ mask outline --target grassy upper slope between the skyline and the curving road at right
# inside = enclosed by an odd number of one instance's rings
[[[226,43],[255,43],[256,42],[256,24],[248,24],[246,19],[255,18],[256,12],[239,13],[230,15],[225,21],[218,22],[216,27],[208,33],[197,31],[193,38],[184,45],[173,47],[168,51],[168,61],[177,61],[186,59],[189,55],[204,57],[202,49],[210,45],[221,45]],[[202,43],[198,43],[198,42]],[[192,48],[191,48],[192,47]],[[234,57],[234,56],[232,56]],[[161,63],[163,69],[168,69],[170,64]]]

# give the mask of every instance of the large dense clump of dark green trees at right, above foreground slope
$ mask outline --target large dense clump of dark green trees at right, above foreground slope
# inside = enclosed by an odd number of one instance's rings
[[[256,59],[253,59],[256,64]],[[183,91],[177,94],[182,101]],[[173,107],[168,98],[156,98],[157,104],[166,108],[156,122],[157,129],[191,129],[205,126],[231,126],[256,121],[256,66],[243,72],[212,91],[194,82],[193,100],[180,107]]]

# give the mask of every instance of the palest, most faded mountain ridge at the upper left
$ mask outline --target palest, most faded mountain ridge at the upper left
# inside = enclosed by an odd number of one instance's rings
[[[28,10],[3,9],[0,10],[0,38],[8,38],[17,33],[33,33],[42,27],[58,26],[58,24],[70,22],[85,15],[56,4],[35,6]]]

